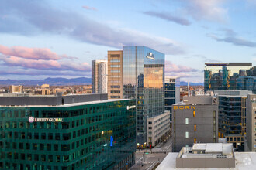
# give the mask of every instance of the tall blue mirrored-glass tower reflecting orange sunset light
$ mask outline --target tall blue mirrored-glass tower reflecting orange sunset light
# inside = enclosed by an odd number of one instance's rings
[[[123,98],[136,99],[137,143],[147,141],[147,118],[164,113],[164,53],[123,47]]]

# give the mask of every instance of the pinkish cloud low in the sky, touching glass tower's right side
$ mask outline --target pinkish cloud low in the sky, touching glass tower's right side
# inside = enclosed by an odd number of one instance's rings
[[[199,72],[200,70],[193,69],[189,66],[181,66],[171,63],[171,61],[165,61],[164,67],[165,73],[180,73],[180,72]]]

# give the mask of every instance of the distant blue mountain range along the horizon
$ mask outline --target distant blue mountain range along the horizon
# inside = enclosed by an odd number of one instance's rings
[[[47,78],[44,80],[0,80],[0,85],[24,85],[24,86],[36,86],[44,83],[50,84],[50,86],[67,86],[67,85],[85,85],[91,84],[92,79],[86,77],[78,77],[74,79],[66,78]],[[187,86],[188,82],[181,81],[181,86]],[[189,83],[189,86],[203,86],[203,83]]]

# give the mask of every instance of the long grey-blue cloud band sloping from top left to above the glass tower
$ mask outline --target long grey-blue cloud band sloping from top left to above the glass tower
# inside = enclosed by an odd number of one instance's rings
[[[185,53],[184,48],[171,39],[130,29],[112,29],[76,12],[53,8],[44,1],[2,0],[0,15],[9,15],[8,19],[0,19],[0,32],[32,36],[46,32],[102,46],[144,45],[166,54]]]

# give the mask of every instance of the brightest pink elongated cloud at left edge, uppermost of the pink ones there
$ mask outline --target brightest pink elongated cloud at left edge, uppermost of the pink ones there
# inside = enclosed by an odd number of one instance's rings
[[[25,59],[43,59],[43,60],[58,60],[62,58],[70,58],[66,55],[57,55],[47,48],[28,48],[24,46],[2,46],[0,45],[0,53],[5,56],[17,56]]]

